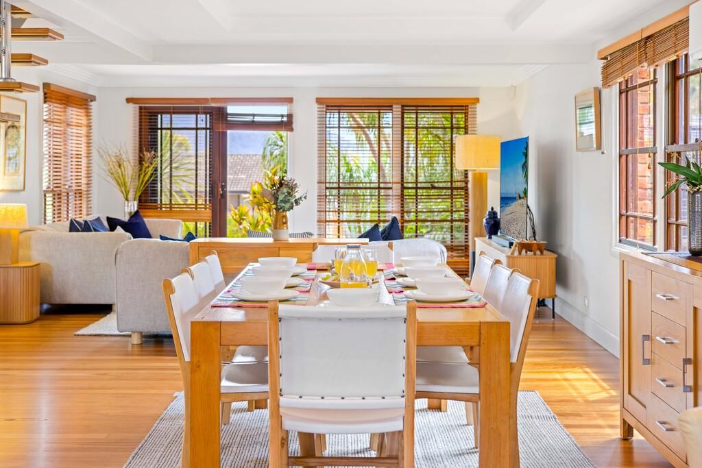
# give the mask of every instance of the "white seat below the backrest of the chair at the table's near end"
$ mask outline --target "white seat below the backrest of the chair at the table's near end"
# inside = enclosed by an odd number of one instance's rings
[[[280,408],[283,429],[313,434],[376,434],[402,431],[404,408],[310,410]]]

